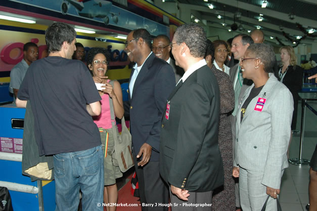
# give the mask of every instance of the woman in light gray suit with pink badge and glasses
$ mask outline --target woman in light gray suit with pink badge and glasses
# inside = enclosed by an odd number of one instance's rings
[[[239,177],[244,211],[277,210],[281,178],[288,167],[293,97],[274,76],[275,54],[266,44],[251,44],[241,59],[243,78],[252,79],[239,104],[233,176]]]

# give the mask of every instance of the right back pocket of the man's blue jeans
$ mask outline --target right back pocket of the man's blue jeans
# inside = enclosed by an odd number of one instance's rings
[[[85,175],[96,175],[101,167],[101,151],[95,150],[93,154],[88,156],[78,157],[80,164],[85,172]]]

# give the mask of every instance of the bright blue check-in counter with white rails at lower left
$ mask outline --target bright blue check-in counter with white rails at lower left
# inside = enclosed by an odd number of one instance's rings
[[[0,106],[0,186],[9,189],[14,211],[53,211],[55,181],[22,175],[24,114],[24,108]]]

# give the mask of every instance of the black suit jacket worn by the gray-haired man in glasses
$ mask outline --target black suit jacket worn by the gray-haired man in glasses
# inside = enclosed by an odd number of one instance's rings
[[[192,192],[223,184],[218,147],[219,88],[205,65],[168,98],[169,118],[162,118],[160,174],[165,182]]]

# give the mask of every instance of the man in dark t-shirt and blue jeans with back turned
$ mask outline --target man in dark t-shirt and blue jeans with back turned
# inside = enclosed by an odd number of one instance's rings
[[[40,155],[54,155],[56,209],[103,210],[104,164],[100,133],[92,116],[101,97],[85,65],[72,60],[76,32],[54,23],[45,33],[49,56],[33,62],[20,86],[16,105],[32,102]]]

